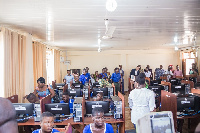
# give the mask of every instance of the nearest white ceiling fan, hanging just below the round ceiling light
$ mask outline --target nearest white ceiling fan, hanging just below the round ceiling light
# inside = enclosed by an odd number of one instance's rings
[[[104,20],[105,20],[105,25],[106,25],[106,32],[105,32],[105,35],[102,37],[102,39],[112,39],[113,33],[116,27],[115,26],[108,27],[108,24],[109,24],[108,19],[104,19]]]

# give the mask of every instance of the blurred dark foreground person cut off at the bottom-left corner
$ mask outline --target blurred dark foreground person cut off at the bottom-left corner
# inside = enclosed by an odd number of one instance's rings
[[[0,97],[0,133],[18,133],[16,111],[12,103]]]

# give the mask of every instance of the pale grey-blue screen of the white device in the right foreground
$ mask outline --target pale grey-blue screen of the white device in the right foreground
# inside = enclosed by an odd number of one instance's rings
[[[168,114],[153,115],[151,117],[152,133],[173,133],[172,117]]]

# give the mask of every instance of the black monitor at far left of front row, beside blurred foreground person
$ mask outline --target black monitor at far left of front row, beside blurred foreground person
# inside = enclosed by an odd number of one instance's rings
[[[33,115],[34,105],[32,103],[13,103],[16,115]]]

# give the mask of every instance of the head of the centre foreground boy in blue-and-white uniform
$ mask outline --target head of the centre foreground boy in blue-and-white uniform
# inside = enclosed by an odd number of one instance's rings
[[[104,125],[104,110],[102,108],[96,107],[92,110],[92,120],[95,127],[101,128]]]

